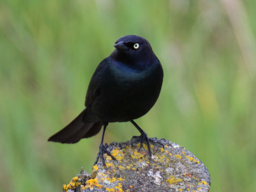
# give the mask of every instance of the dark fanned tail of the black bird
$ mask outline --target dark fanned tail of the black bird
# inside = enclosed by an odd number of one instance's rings
[[[52,135],[48,141],[76,143],[82,138],[96,135],[101,129],[102,122],[95,119],[94,121],[88,121],[87,119],[90,119],[93,115],[90,112],[88,114],[87,108],[84,109],[71,123]]]

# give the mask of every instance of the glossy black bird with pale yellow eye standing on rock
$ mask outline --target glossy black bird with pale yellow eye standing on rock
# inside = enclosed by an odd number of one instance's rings
[[[126,35],[119,38],[114,47],[116,49],[99,63],[92,76],[86,94],[86,109],[48,139],[76,143],[82,138],[96,135],[103,125],[95,164],[101,158],[104,166],[104,153],[115,159],[103,145],[104,132],[109,122],[130,121],[141,134],[140,149],[145,140],[151,158],[150,139],[134,119],[145,115],[152,108],[163,81],[161,63],[146,39]]]

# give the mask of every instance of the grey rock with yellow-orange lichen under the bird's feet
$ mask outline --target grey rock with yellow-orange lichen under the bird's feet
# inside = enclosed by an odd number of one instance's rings
[[[151,138],[152,159],[148,148],[133,137],[124,143],[113,142],[108,147],[117,159],[104,155],[102,163],[93,166],[89,175],[83,169],[63,191],[209,191],[210,175],[204,164],[176,143]]]

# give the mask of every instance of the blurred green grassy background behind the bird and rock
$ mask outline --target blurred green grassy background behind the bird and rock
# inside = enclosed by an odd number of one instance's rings
[[[0,191],[61,191],[91,173],[101,134],[47,142],[84,108],[98,63],[121,36],[150,41],[164,69],[148,136],[193,152],[211,191],[256,188],[256,1],[0,2]],[[111,123],[105,142],[139,135]]]

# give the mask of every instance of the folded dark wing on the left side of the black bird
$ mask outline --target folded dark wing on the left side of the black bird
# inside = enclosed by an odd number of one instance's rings
[[[89,106],[95,97],[100,94],[100,76],[101,76],[101,70],[108,64],[107,58],[103,59],[98,67],[96,68],[91,81],[89,83],[87,93],[86,93],[86,102],[84,105]]]

